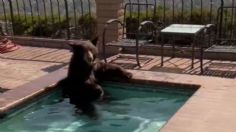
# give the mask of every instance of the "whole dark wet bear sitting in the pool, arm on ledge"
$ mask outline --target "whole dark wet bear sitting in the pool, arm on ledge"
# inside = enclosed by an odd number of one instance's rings
[[[67,78],[58,84],[63,88],[63,95],[81,112],[94,115],[93,102],[103,97],[99,85],[104,80],[127,80],[132,74],[122,67],[95,61],[98,54],[96,41],[69,41],[73,55],[70,60]]]

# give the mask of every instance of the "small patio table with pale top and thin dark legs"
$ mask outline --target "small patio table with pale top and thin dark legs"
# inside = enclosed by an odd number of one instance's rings
[[[192,47],[192,64],[191,68],[194,67],[194,58],[195,58],[195,45],[196,40],[198,39],[198,36],[201,36],[201,33],[203,29],[205,28],[205,25],[195,25],[195,24],[171,24],[168,27],[162,29],[160,31],[161,35],[161,66],[163,66],[164,63],[164,38],[171,36],[173,42],[172,44],[172,57],[174,57],[174,50],[175,50],[175,39],[180,36],[188,36],[191,37],[193,40],[191,43]]]

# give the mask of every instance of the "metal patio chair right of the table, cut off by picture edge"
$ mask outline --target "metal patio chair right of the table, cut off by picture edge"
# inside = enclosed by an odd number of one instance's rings
[[[201,48],[200,67],[203,73],[204,53],[236,54],[236,7],[222,6],[217,11],[216,24],[206,26],[208,48]],[[205,50],[204,50],[205,49]]]

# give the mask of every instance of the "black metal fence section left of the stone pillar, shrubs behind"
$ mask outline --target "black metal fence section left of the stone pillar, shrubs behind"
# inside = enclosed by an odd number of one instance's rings
[[[6,35],[90,38],[96,34],[95,0],[0,0]]]

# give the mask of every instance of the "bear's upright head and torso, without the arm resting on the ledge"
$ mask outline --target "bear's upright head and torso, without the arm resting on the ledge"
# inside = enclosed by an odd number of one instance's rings
[[[103,90],[93,75],[93,63],[98,53],[90,41],[69,41],[72,48],[67,77],[58,85],[62,87],[64,97],[87,115],[93,115],[93,102],[103,96]]]

